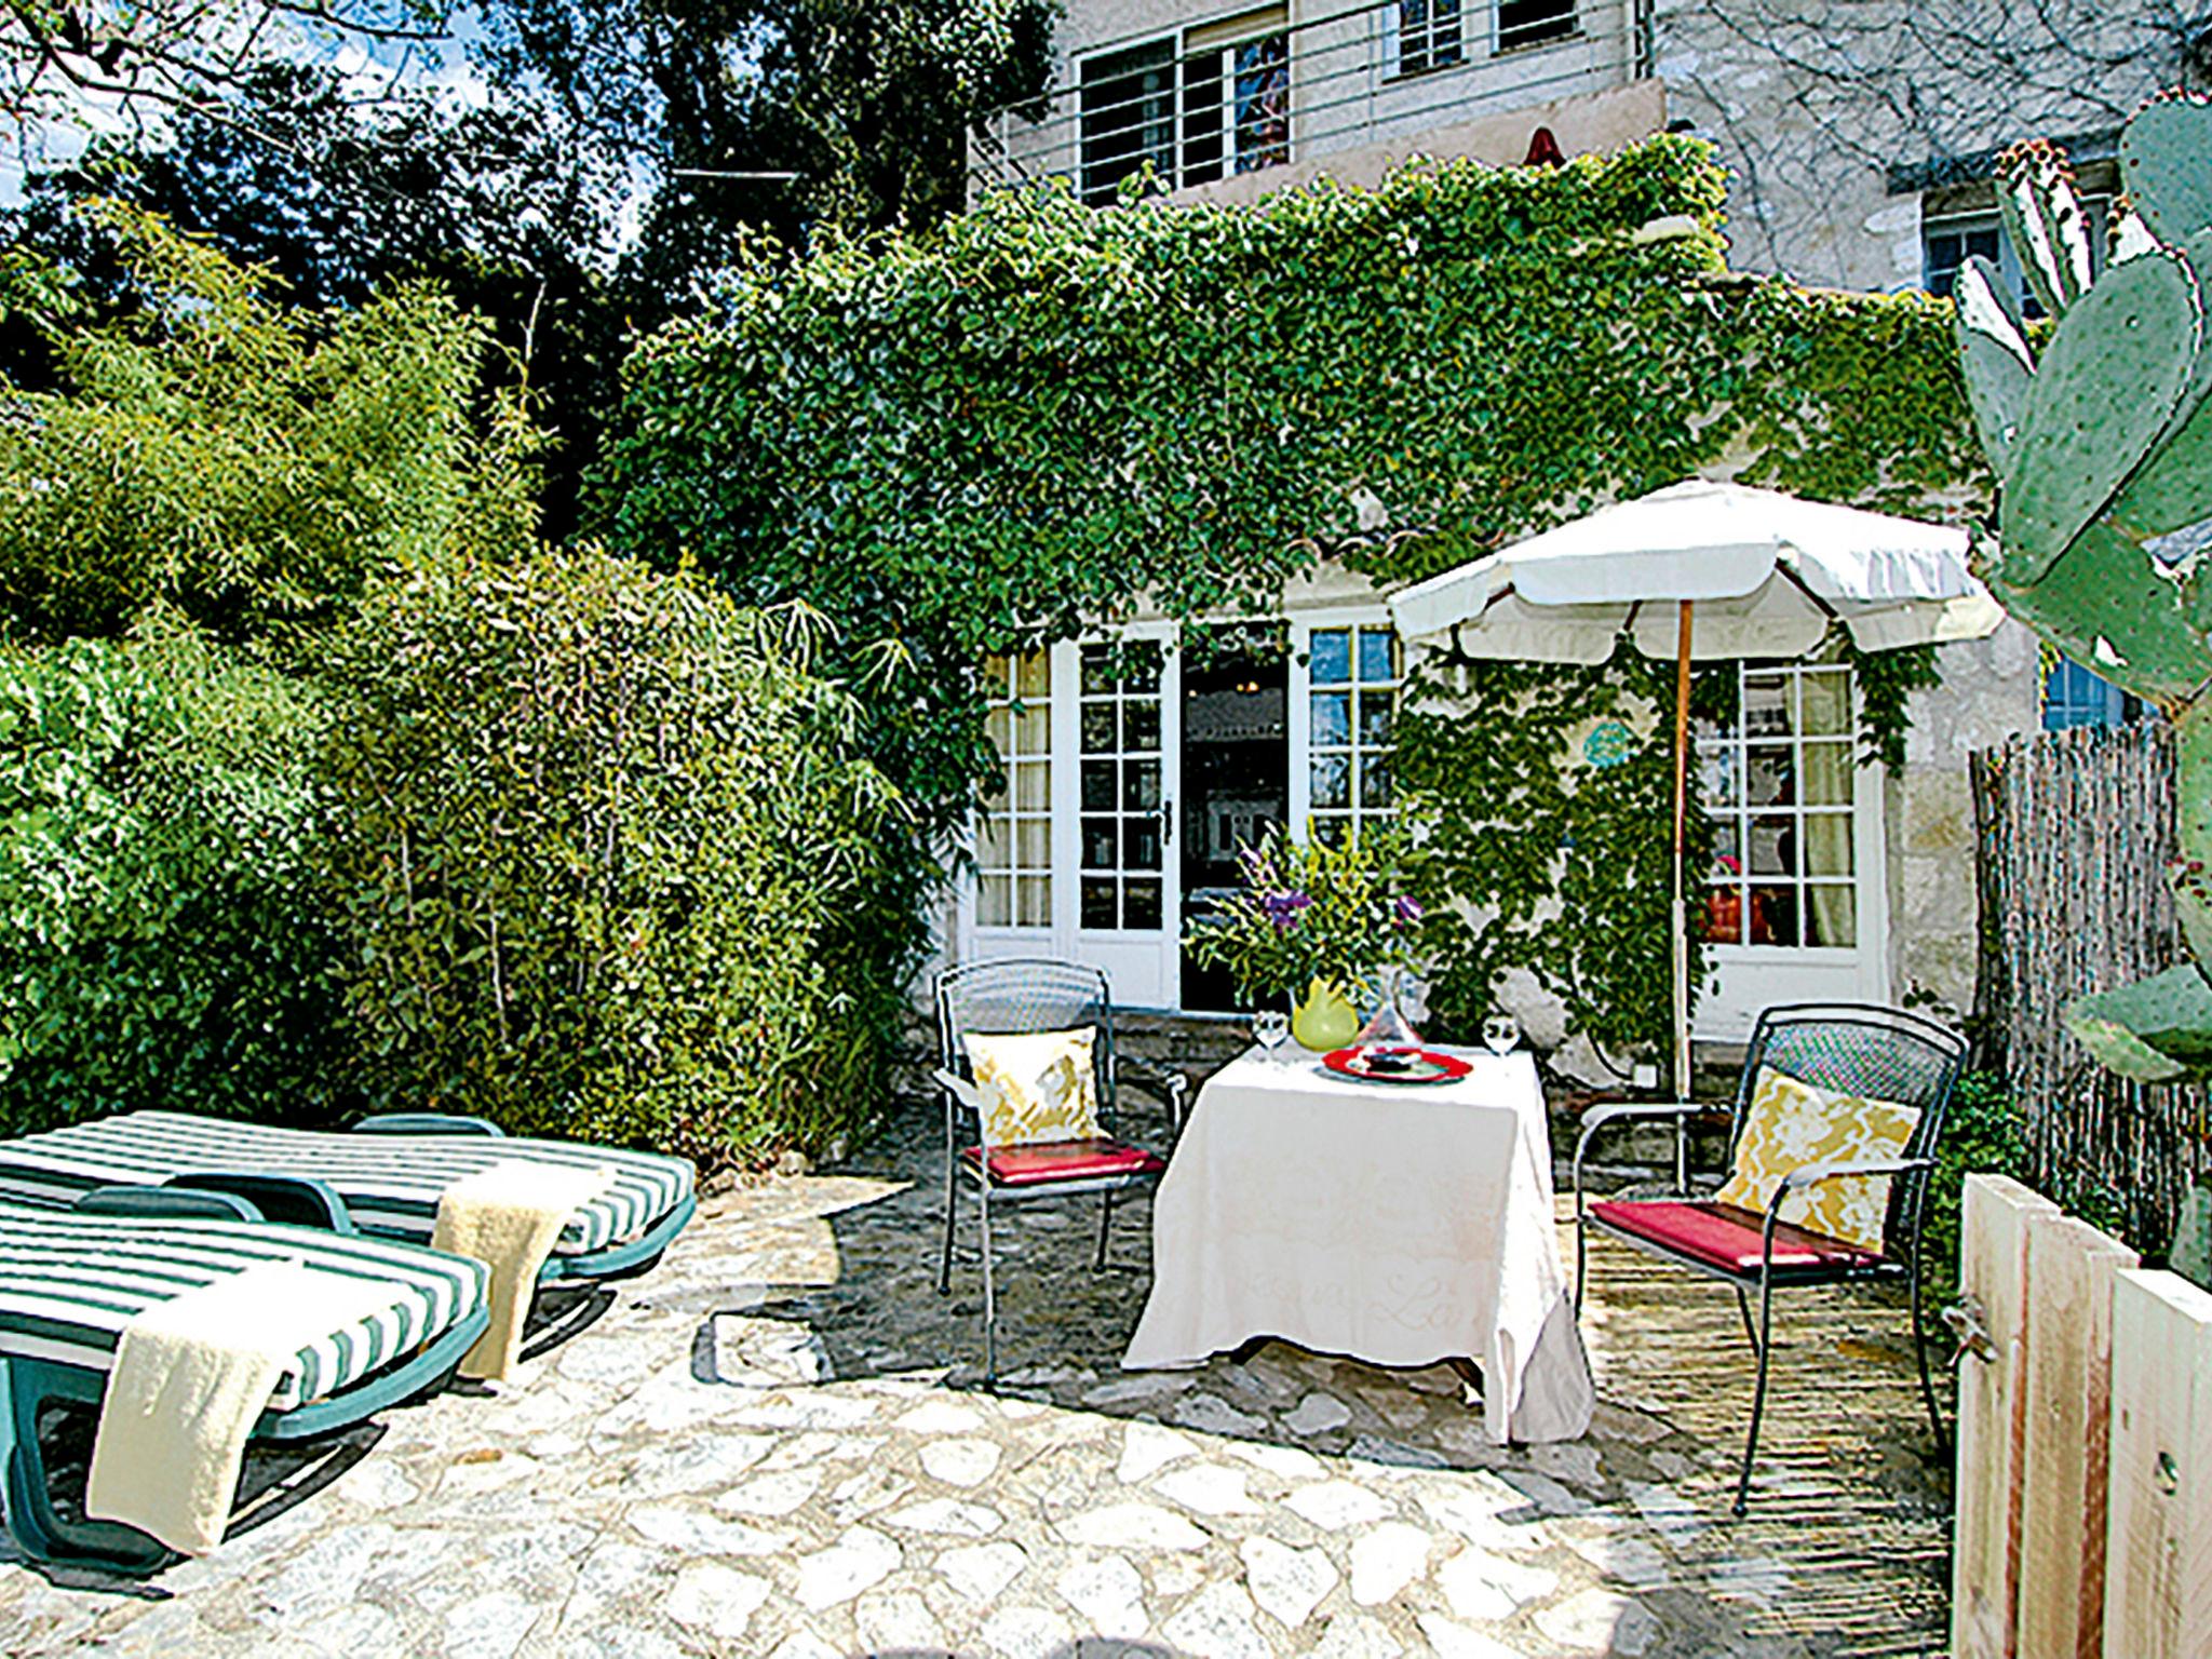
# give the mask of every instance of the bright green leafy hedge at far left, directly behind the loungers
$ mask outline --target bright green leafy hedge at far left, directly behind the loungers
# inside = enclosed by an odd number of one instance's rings
[[[0,653],[0,1133],[336,1108],[314,726],[190,639]]]

